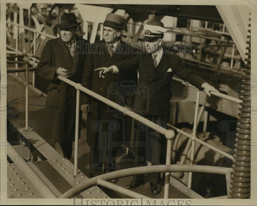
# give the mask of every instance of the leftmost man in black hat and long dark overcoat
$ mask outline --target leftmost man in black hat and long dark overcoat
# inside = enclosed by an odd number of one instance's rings
[[[63,13],[57,25],[60,37],[46,42],[38,64],[39,75],[50,80],[41,134],[53,139],[58,153],[67,159],[71,158],[75,141],[76,89],[59,80],[58,75],[81,83],[86,56],[81,51],[90,43],[77,36],[79,24],[74,13]],[[90,82],[84,82],[84,86],[90,89]],[[85,104],[89,104],[87,96]]]

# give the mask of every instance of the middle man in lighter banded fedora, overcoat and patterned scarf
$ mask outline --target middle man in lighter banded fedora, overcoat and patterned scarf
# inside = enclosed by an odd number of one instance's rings
[[[109,67],[124,59],[132,58],[130,45],[121,40],[121,31],[126,29],[122,26],[122,17],[117,14],[109,13],[103,24],[103,40],[91,45],[94,48],[86,57],[86,68],[82,77],[82,86],[89,80],[88,73],[93,75],[91,90],[113,102],[123,102],[117,99],[117,95],[108,93],[108,88],[118,89],[122,81],[136,82],[137,72],[129,71],[122,74],[113,74],[109,78],[99,79],[98,72],[94,69],[99,67]],[[96,48],[96,49],[95,49]],[[96,52],[95,52],[96,51]],[[134,83],[135,84],[135,83]],[[126,99],[124,105],[127,105],[130,99]],[[84,95],[81,94],[81,110],[88,112],[85,105],[87,103]],[[124,106],[122,105],[122,106]],[[117,153],[116,143],[123,141],[124,131],[123,113],[108,107],[105,103],[91,98],[90,114],[87,116],[87,144],[90,146],[90,176],[95,177],[104,173],[114,171]],[[105,134],[105,135],[103,135]],[[109,135],[108,135],[109,134]],[[117,180],[113,180],[115,182]]]

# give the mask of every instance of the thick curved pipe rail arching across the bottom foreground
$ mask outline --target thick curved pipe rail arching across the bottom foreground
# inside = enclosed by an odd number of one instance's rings
[[[78,186],[66,191],[60,198],[70,198],[76,196],[80,192],[95,186],[97,184],[97,179],[99,178],[107,181],[115,178],[123,178],[138,174],[150,174],[155,172],[204,172],[225,175],[227,171],[232,172],[232,169],[206,165],[166,165],[166,167],[163,168],[160,168],[160,165],[134,167],[108,172],[106,174],[90,178],[84,182],[81,182]]]

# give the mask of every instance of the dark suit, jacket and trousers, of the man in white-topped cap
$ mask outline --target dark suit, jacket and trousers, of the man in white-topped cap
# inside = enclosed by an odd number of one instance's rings
[[[198,89],[201,89],[201,85],[205,82],[198,75],[186,68],[177,55],[165,52],[163,52],[156,68],[154,67],[153,58],[150,53],[139,53],[130,60],[124,60],[114,65],[118,68],[119,73],[138,68],[138,88],[143,87],[145,89],[138,89],[135,92],[135,99],[139,102],[139,106],[134,111],[143,114],[149,121],[164,123],[164,125],[161,124],[163,127],[169,121],[170,99],[172,97],[170,88],[173,75],[178,75],[182,80],[191,83]],[[135,123],[138,124],[137,121]],[[149,128],[148,132],[153,131]],[[137,157],[141,157],[142,160],[135,160],[134,167],[145,166],[147,159],[152,162],[152,165],[165,164],[167,145],[165,136],[158,135],[158,139],[154,138],[154,135],[151,139],[147,139],[146,136],[146,131],[141,130],[138,125],[135,125],[134,140],[138,145],[135,146],[134,153]],[[146,142],[147,146],[142,147],[142,142]],[[151,154],[151,156],[148,157],[147,154]],[[143,178],[144,174],[133,177],[134,180]],[[159,181],[160,173],[150,174],[151,183],[157,184]]]

